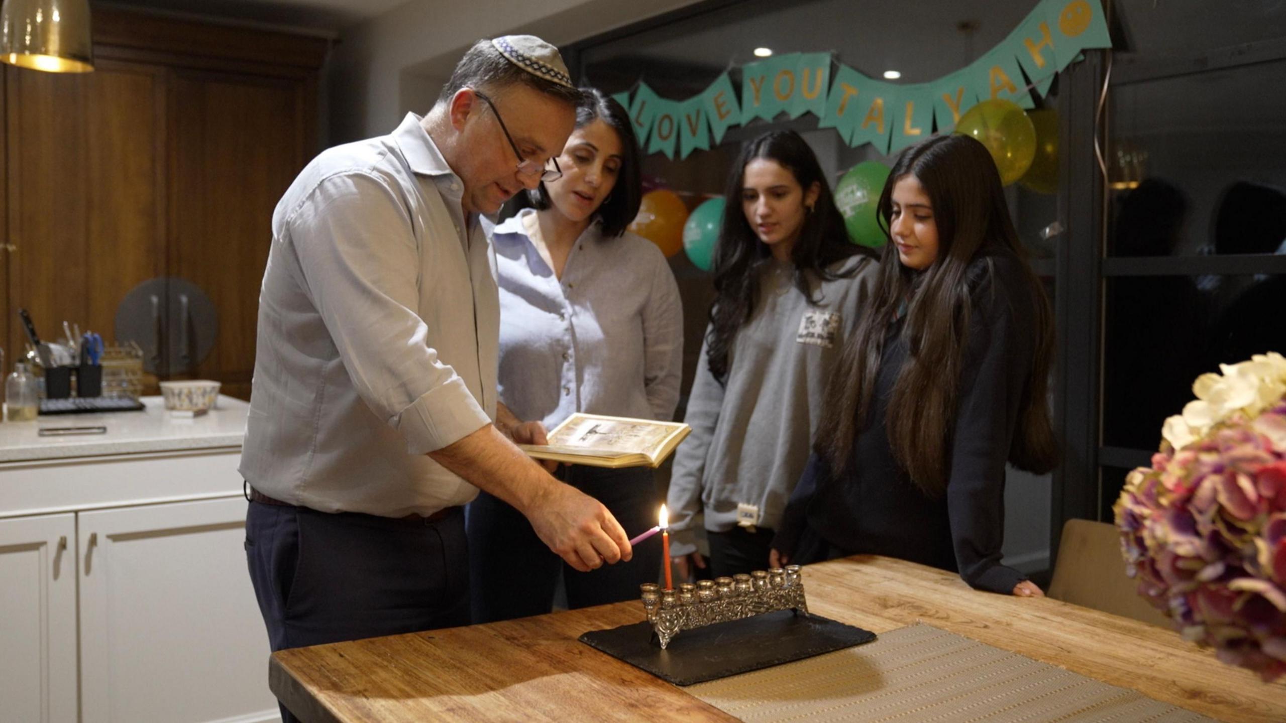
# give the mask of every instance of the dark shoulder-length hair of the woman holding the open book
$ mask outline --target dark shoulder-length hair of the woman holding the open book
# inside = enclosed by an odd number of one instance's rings
[[[621,169],[616,174],[616,185],[603,203],[594,211],[594,217],[602,223],[603,238],[613,238],[625,233],[634,216],[638,216],[643,201],[642,167],[639,165],[639,143],[634,135],[634,124],[624,105],[597,87],[581,87],[580,102],[576,104],[576,127],[583,129],[594,121],[603,121],[616,131],[621,140]],[[535,190],[526,192],[526,201],[536,211],[549,208],[549,192],[545,183]]]

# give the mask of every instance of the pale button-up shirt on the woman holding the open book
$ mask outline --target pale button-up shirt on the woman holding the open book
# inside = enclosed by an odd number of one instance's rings
[[[500,283],[500,400],[553,428],[574,412],[674,418],[683,307],[665,255],[590,224],[559,279],[523,228],[525,208],[493,232]]]

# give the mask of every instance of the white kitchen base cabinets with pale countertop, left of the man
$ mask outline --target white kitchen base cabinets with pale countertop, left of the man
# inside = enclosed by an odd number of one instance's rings
[[[279,720],[243,548],[248,405],[0,423],[0,720]]]

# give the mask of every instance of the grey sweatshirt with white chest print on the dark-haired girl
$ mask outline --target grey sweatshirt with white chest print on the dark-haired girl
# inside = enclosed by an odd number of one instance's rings
[[[696,549],[701,512],[705,527],[719,533],[737,525],[738,504],[755,509],[756,526],[781,522],[844,340],[874,284],[876,262],[867,257],[851,256],[832,270],[855,274],[814,284],[815,306],[795,287],[792,265],[769,262],[761,270],[759,304],[733,338],[725,383],[710,373],[702,343],[684,417],[692,434],[674,454],[666,499],[671,554]]]

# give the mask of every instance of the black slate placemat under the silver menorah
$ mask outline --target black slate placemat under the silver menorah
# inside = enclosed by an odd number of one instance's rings
[[[580,642],[675,686],[718,681],[873,639],[871,630],[791,610],[683,630],[666,650],[652,639],[647,621],[580,637]]]

